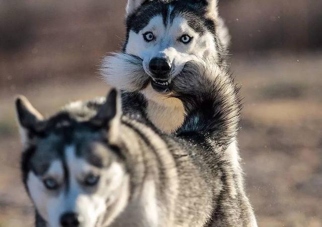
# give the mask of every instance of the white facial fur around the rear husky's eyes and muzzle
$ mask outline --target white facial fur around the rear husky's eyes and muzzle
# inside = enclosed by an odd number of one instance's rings
[[[149,62],[155,57],[166,58],[171,62],[172,70],[169,74],[171,79],[182,71],[188,61],[210,56],[215,56],[215,60],[217,60],[215,40],[210,32],[200,35],[188,25],[187,20],[183,17],[176,17],[168,26],[165,26],[163,21],[162,16],[155,16],[138,33],[134,31],[129,33],[125,52],[143,59],[143,69],[148,75],[152,76]],[[153,32],[155,40],[146,42],[143,39],[143,34],[146,32]],[[178,40],[185,34],[193,37],[188,44]]]

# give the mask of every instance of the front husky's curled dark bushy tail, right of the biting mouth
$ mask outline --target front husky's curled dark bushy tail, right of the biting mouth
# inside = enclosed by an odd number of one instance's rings
[[[174,96],[181,99],[186,117],[177,134],[202,134],[218,146],[228,146],[238,131],[239,88],[231,73],[210,61],[188,63],[172,82]]]

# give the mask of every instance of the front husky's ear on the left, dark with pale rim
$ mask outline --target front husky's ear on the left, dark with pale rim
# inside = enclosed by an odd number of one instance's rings
[[[28,147],[34,141],[37,125],[43,121],[42,115],[31,105],[25,96],[16,99],[16,112],[21,140]]]

